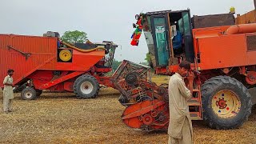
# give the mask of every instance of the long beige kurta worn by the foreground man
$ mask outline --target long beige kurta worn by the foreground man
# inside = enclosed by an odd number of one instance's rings
[[[170,77],[168,90],[170,109],[168,134],[170,137],[178,138],[180,140],[188,136],[187,134],[190,134],[190,142],[185,143],[192,143],[192,122],[189,106],[187,105],[187,100],[192,97],[192,94],[190,93],[190,90],[186,88],[182,76],[178,73]]]

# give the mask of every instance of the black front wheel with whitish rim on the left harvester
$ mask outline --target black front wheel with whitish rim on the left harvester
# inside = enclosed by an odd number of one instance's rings
[[[98,91],[98,81],[91,75],[82,75],[74,82],[74,94],[77,98],[96,98]]]

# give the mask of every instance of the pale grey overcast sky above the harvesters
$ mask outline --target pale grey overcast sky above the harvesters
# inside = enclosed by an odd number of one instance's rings
[[[48,30],[63,34],[82,30],[91,42],[113,41],[118,47],[115,57],[143,62],[146,40],[130,46],[136,22],[135,14],[154,10],[186,10],[191,15],[228,13],[231,6],[237,14],[254,9],[253,0],[0,0],[0,33],[42,35]]]

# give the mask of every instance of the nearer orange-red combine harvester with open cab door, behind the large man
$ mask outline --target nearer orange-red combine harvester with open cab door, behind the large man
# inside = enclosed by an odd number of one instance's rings
[[[180,62],[192,63],[194,90],[188,104],[193,120],[224,130],[247,120],[256,103],[256,23],[235,25],[233,14],[190,18],[190,10],[149,12],[136,18],[142,18],[138,21],[155,74],[172,75]],[[119,102],[126,106],[123,122],[136,130],[166,130],[168,84],[156,86],[141,77],[143,71],[123,66],[120,70],[128,70],[119,85]]]

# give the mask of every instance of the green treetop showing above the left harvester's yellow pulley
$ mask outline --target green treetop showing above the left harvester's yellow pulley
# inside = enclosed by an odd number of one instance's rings
[[[74,31],[66,31],[62,35],[61,39],[63,42],[82,43],[86,41],[86,38],[87,38],[87,34],[85,32],[74,30]]]

